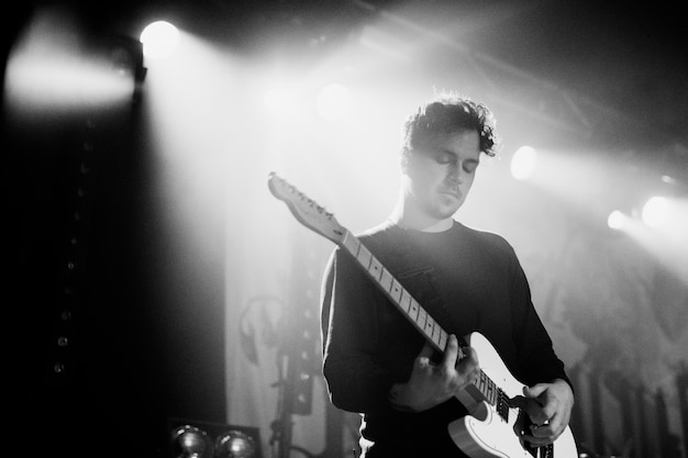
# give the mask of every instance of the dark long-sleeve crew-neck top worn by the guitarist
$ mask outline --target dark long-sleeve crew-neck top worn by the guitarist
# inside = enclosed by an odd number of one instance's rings
[[[447,333],[485,335],[522,383],[568,381],[501,236],[454,222],[441,233],[385,224],[358,239]],[[369,457],[462,456],[446,433],[450,421],[467,413],[456,399],[420,414],[389,404],[391,386],[408,381],[424,337],[342,248],[325,271],[321,319],[331,400],[364,414],[362,436],[375,443]]]

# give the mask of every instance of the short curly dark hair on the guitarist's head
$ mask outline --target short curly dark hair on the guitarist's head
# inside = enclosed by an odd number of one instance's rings
[[[401,159],[406,161],[415,149],[423,148],[441,134],[476,131],[480,152],[493,157],[499,148],[492,112],[482,103],[453,92],[443,92],[421,105],[403,124]]]

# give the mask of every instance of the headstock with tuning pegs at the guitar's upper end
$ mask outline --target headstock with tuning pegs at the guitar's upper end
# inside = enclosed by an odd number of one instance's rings
[[[340,225],[332,213],[274,171],[268,175],[267,183],[273,196],[284,201],[301,224],[337,245],[344,242],[346,228]]]

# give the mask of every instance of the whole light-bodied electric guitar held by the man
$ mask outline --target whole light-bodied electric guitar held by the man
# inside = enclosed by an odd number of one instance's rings
[[[425,339],[436,350],[444,351],[448,334],[332,213],[275,172],[268,176],[268,187],[301,224],[348,252]],[[480,333],[471,333],[465,340],[478,354],[480,375],[479,381],[469,383],[456,395],[469,414],[447,425],[454,444],[471,458],[577,458],[568,426],[554,444],[544,447],[531,447],[521,439],[530,420],[510,399],[522,395],[524,384],[509,372],[495,347]]]

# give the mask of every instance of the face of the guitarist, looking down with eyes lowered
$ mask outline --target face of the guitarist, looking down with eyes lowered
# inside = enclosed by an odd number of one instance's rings
[[[444,134],[408,161],[408,197],[429,217],[452,217],[466,200],[479,164],[480,139],[475,131]]]

